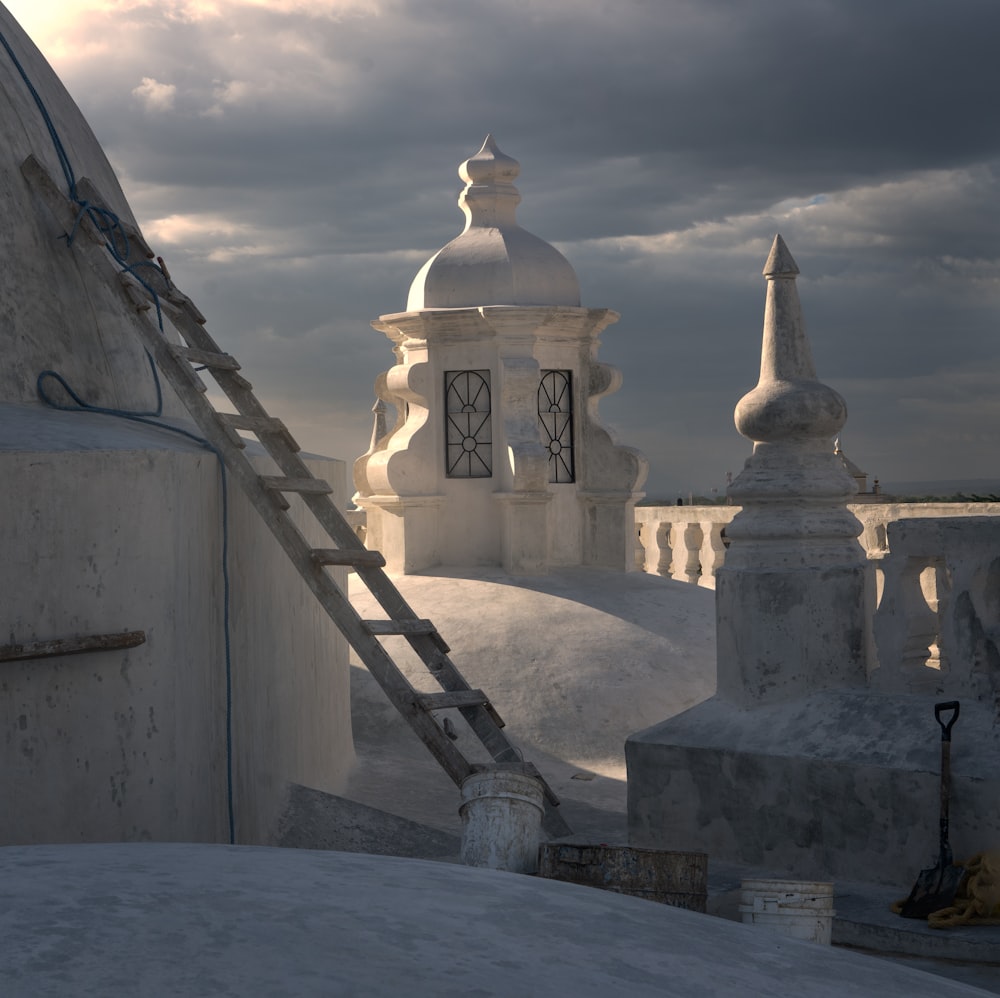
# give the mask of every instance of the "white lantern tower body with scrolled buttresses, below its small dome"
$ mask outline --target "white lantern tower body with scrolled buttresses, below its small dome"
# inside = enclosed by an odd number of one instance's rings
[[[355,501],[367,512],[367,544],[382,551],[391,571],[634,567],[632,508],[646,463],[613,439],[598,413],[600,399],[621,382],[596,360],[598,337],[616,318],[608,309],[484,306],[373,323],[399,361],[377,390],[404,416],[355,462]],[[572,483],[549,481],[549,442],[538,415],[546,370],[569,372],[572,380]],[[448,476],[450,371],[488,372],[488,478]]]

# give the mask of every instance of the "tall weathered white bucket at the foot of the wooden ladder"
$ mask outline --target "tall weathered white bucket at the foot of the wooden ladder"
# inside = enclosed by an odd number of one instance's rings
[[[527,773],[484,769],[462,783],[462,862],[511,873],[538,869],[542,785]]]

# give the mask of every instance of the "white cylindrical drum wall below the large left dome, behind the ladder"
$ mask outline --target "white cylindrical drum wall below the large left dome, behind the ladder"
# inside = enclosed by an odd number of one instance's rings
[[[341,462],[315,462],[345,501]],[[0,663],[0,843],[228,839],[218,462],[135,423],[0,406],[2,643],[143,630],[128,651]],[[288,781],[353,760],[346,647],[230,489],[237,839]]]

